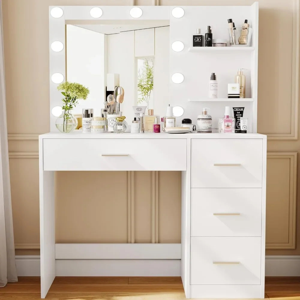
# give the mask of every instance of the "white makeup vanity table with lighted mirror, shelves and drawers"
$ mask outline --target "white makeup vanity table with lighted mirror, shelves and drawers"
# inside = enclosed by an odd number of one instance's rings
[[[56,79],[66,78],[65,52],[52,51],[51,45],[54,41],[64,44],[66,24],[84,21],[94,24],[99,20],[105,24],[112,20],[140,20],[143,24],[149,20],[170,20],[170,46],[174,41],[182,41],[184,49],[170,50],[170,100],[167,103],[181,105],[182,118],[193,120],[203,106],[209,105],[213,127],[217,118],[223,116],[225,105],[243,106],[244,116],[249,118],[249,130],[247,134],[82,134],[80,131],[61,134],[55,128],[56,117],[51,115],[52,132],[39,137],[41,298],[46,297],[55,276],[70,276],[70,273],[71,276],[139,276],[142,270],[133,275],[126,269],[131,259],[135,260],[137,270],[148,268],[149,276],[170,274],[165,270],[162,273],[157,266],[160,260],[163,262],[172,255],[174,259],[181,259],[180,274],[187,298],[264,298],[267,140],[266,136],[256,133],[258,4],[182,6],[184,15],[180,17],[173,15],[175,7],[142,6],[139,18],[130,15],[130,6],[93,8],[49,7],[50,110],[61,105]],[[55,16],[52,9],[56,11]],[[190,48],[194,29],[211,24],[215,32],[222,35],[219,29],[228,18],[240,23],[243,19],[250,20],[253,29],[250,47]],[[228,101],[223,86],[233,81],[233,71],[240,67],[249,70],[248,98]],[[220,75],[219,92],[223,98],[207,99],[208,75],[214,70]],[[172,74],[179,72],[184,75],[184,81],[172,82]],[[124,81],[124,84],[127,83]],[[196,95],[193,95],[193,86],[199,89]],[[196,102],[203,104],[199,106]],[[76,149],[76,152],[62,156],[67,149]],[[55,171],[100,170],[182,171],[181,246],[55,244]],[[149,259],[146,267],[139,264],[145,257]],[[100,265],[96,263],[99,260],[103,261]],[[151,260],[157,262],[152,267]],[[66,266],[71,264],[74,267],[68,269]],[[172,274],[179,275],[176,271]]]

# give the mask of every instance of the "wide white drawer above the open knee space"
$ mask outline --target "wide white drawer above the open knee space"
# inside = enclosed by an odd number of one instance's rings
[[[180,171],[187,142],[179,139],[44,139],[44,170]]]

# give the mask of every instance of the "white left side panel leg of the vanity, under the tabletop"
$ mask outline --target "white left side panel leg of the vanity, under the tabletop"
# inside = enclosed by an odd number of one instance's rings
[[[40,243],[41,243],[41,298],[45,298],[55,278],[55,201],[54,201],[54,171],[41,170],[41,164],[40,164]]]

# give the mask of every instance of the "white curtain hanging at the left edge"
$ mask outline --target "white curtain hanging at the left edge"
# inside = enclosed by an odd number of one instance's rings
[[[8,165],[7,122],[5,105],[3,23],[0,2],[0,287],[16,282],[13,217],[11,212],[10,179]]]

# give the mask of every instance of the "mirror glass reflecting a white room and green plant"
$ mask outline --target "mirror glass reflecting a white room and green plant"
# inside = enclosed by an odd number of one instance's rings
[[[79,100],[73,114],[93,108],[94,115],[100,116],[107,97],[120,85],[124,88],[120,111],[128,123],[134,117],[133,106],[147,106],[155,115],[165,115],[170,85],[169,20],[99,20],[66,27],[67,80],[90,89],[87,100]]]

